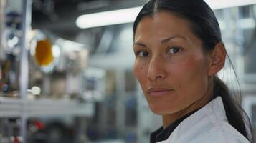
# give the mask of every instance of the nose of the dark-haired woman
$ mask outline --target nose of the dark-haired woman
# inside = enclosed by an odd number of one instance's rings
[[[160,58],[151,59],[148,66],[148,79],[164,79],[166,71],[164,70],[163,61]]]

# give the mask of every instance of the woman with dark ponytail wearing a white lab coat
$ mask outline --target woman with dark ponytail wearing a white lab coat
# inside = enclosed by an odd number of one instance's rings
[[[148,1],[133,34],[134,73],[163,119],[151,142],[252,142],[244,112],[217,77],[227,53],[203,0]]]

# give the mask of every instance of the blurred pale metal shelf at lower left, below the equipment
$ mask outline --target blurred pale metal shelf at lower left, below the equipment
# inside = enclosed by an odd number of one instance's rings
[[[94,104],[65,99],[37,99],[23,103],[22,99],[0,98],[0,117],[22,117],[24,114],[27,117],[90,117],[94,114]]]

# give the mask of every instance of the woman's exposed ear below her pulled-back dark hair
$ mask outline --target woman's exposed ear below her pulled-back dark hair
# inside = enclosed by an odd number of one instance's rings
[[[210,54],[211,59],[209,63],[208,76],[217,74],[217,72],[223,68],[225,64],[226,55],[227,51],[224,47],[224,44],[222,42],[216,44],[214,50]]]

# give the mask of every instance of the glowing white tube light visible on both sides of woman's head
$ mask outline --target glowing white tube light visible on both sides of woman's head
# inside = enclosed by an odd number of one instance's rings
[[[256,0],[204,0],[212,9],[223,9],[234,6],[245,6],[256,4]],[[81,29],[93,28],[98,26],[107,26],[114,24],[131,23],[136,19],[141,6],[120,9],[114,11],[104,11],[94,14],[85,14],[77,18],[76,24]]]

